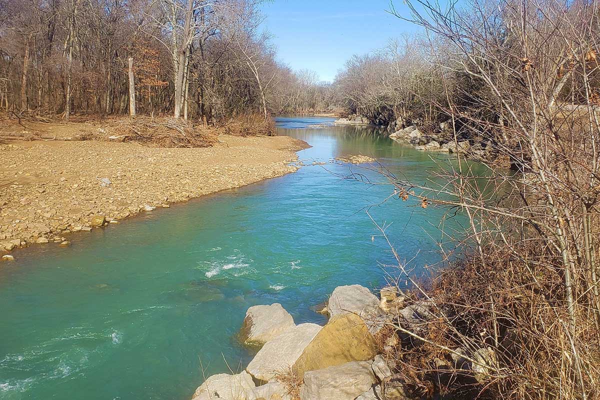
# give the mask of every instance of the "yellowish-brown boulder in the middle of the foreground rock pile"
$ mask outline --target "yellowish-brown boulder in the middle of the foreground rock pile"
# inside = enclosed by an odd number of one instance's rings
[[[302,376],[314,369],[371,360],[376,354],[377,345],[365,321],[356,314],[341,314],[331,318],[317,333],[296,360],[292,371]]]

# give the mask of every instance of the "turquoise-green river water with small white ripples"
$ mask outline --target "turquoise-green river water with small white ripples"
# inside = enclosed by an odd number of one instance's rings
[[[280,134],[313,148],[304,160],[376,157],[424,182],[433,163],[355,127],[305,128],[327,118],[278,119]],[[246,309],[280,302],[296,323],[341,284],[376,287],[392,255],[364,207],[389,187],[297,173],[156,210],[117,227],[71,236],[71,248],[34,246],[0,268],[0,399],[189,399],[203,375],[242,368],[235,341]],[[366,173],[366,172],[365,172]],[[367,173],[376,178],[373,173]],[[400,254],[437,260],[430,237],[442,210],[389,201]],[[418,271],[418,269],[417,269]]]

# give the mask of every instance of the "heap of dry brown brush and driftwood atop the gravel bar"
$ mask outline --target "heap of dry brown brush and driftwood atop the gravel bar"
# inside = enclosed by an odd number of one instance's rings
[[[122,118],[107,125],[107,131],[124,142],[172,148],[205,148],[214,145],[217,137],[202,125],[193,125],[170,118]]]

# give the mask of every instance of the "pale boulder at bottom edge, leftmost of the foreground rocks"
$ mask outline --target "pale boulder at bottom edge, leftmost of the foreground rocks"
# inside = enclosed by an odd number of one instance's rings
[[[247,372],[237,375],[218,374],[209,377],[196,389],[193,400],[253,400],[256,385]]]

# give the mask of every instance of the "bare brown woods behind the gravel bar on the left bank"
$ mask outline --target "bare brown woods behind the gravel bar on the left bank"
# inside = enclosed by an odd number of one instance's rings
[[[205,122],[325,110],[327,85],[277,60],[259,2],[2,0],[0,108]]]

